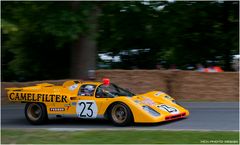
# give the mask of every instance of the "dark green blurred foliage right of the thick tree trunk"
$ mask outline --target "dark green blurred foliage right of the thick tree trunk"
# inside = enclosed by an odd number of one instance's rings
[[[99,49],[117,54],[126,49],[151,48],[150,54],[132,59],[132,63],[142,61],[138,68],[174,64],[186,69],[186,65],[211,60],[230,70],[230,57],[238,54],[239,48],[238,4],[112,2],[103,9]],[[122,65],[128,66],[130,60]]]

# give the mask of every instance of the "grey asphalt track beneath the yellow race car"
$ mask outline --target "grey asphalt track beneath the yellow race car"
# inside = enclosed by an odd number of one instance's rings
[[[238,131],[238,102],[181,102],[190,111],[190,116],[171,122],[155,124],[133,124],[128,127],[115,127],[107,120],[54,119],[45,125],[31,125],[24,116],[23,105],[1,106],[2,128],[42,128],[49,130],[200,130]]]

